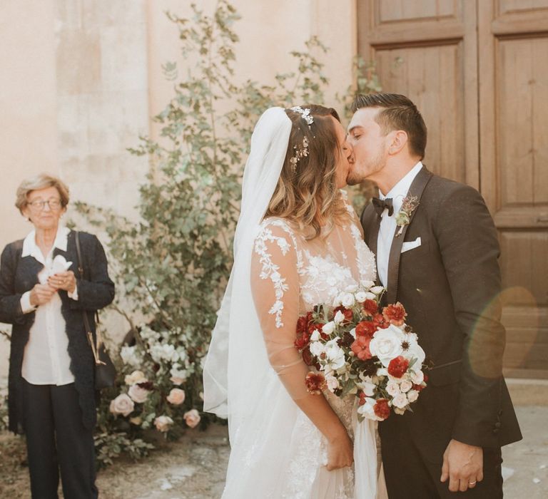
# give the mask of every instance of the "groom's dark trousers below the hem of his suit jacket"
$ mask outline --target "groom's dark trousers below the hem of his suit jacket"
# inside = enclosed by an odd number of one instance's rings
[[[451,492],[449,479],[440,482],[443,453],[423,456],[409,432],[393,437],[381,439],[382,463],[390,499],[502,499],[500,448],[484,448],[484,478],[481,482],[466,492]]]

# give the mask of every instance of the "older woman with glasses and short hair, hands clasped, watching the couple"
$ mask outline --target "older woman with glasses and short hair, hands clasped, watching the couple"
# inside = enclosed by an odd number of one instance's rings
[[[26,434],[33,498],[96,498],[94,362],[83,325],[114,297],[97,237],[61,224],[68,188],[38,175],[17,190],[16,207],[34,229],[12,242],[0,262],[0,321],[13,324],[9,428]]]

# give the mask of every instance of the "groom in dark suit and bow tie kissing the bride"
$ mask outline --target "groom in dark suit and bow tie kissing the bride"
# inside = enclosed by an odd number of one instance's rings
[[[372,180],[365,241],[387,302],[433,362],[412,412],[380,423],[390,499],[502,498],[501,446],[522,438],[502,377],[497,231],[477,190],[422,165],[426,126],[405,96],[357,96],[350,185]]]

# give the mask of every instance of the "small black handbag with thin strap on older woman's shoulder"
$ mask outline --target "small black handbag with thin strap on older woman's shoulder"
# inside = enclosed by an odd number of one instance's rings
[[[80,238],[78,237],[77,231],[74,231],[74,235],[76,240],[76,254],[78,255],[78,273],[80,274],[80,279],[83,279],[83,259],[80,249]],[[93,332],[89,324],[89,317],[86,310],[82,310],[82,317],[83,325],[86,327],[88,343],[89,346],[91,346],[93,359],[95,360],[95,389],[101,390],[103,388],[108,388],[109,386],[114,386],[116,382],[116,367],[114,367],[110,356],[108,356],[108,352],[106,351],[105,344],[101,337],[99,314],[97,311],[95,312],[95,341],[93,341]]]

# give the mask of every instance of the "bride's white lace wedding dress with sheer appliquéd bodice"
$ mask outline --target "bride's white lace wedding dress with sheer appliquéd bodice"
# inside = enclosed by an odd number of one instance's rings
[[[250,279],[273,367],[261,381],[257,411],[250,409],[231,425],[232,453],[223,498],[355,498],[354,467],[325,468],[325,438],[293,401],[306,396],[300,392],[305,392],[304,376],[309,371],[293,346],[298,317],[315,304],[333,303],[339,292],[361,281],[375,279],[375,257],[363,242],[357,217],[348,204],[347,211],[346,225],[336,226],[326,238],[311,241],[284,219],[270,217],[260,224]],[[296,386],[295,379],[299,380]],[[341,400],[328,391],[325,396],[352,437],[355,397]],[[369,473],[376,481],[376,457],[369,465],[375,470],[357,473]]]

